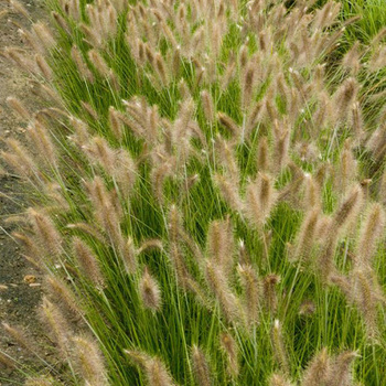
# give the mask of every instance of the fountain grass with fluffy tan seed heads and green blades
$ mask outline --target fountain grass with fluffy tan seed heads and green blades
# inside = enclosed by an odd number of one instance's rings
[[[2,52],[46,96],[2,151],[57,352],[26,385],[382,385],[384,35],[342,53],[334,1],[49,6]]]

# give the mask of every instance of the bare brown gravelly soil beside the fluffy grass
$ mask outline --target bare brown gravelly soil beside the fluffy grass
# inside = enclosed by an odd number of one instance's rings
[[[19,1],[31,13],[32,20],[47,18],[41,0]],[[3,10],[8,10],[8,13],[0,19],[0,49],[18,46],[28,50],[18,34],[18,25],[28,26],[30,21],[12,11],[8,2],[0,0],[0,12]],[[22,122],[7,107],[8,96],[18,97],[31,110],[36,107],[35,97],[31,93],[31,79],[0,56],[0,138],[17,135],[22,140]],[[3,143],[0,143],[0,148],[3,149]],[[8,173],[0,175],[0,322],[20,326],[32,342],[41,346],[45,342],[36,312],[41,301],[41,278],[21,256],[18,245],[10,237],[15,226],[6,222],[10,215],[23,214],[28,207],[23,191],[24,186],[17,176]],[[28,279],[35,281],[33,286],[26,282]],[[32,343],[32,350],[34,344]],[[0,350],[36,371],[44,367],[41,360],[4,334],[1,326]],[[23,375],[2,362],[4,360],[0,356],[0,386],[21,384]]]

